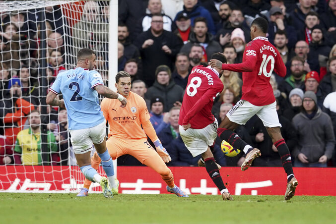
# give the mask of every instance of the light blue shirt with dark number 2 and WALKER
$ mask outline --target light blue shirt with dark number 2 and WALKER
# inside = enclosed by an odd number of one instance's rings
[[[69,130],[94,127],[105,120],[93,89],[97,85],[103,85],[103,79],[96,70],[78,67],[57,75],[49,90],[63,94]]]

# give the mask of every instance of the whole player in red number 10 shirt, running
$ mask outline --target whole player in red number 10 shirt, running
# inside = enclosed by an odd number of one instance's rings
[[[241,100],[226,114],[217,130],[218,136],[229,142],[234,148],[242,149],[246,154],[241,166],[244,171],[252,161],[261,155],[260,150],[248,145],[233,132],[241,124],[245,124],[253,115],[263,121],[274,146],[281,158],[282,166],[287,173],[285,200],[294,196],[298,184],[294,177],[289,149],[281,136],[279,119],[276,113],[276,102],[269,77],[274,71],[281,77],[286,75],[286,67],[276,48],[266,38],[268,21],[256,18],[251,24],[252,41],[246,45],[243,62],[239,64],[223,64],[212,59],[211,67],[223,70],[243,72],[243,96]]]

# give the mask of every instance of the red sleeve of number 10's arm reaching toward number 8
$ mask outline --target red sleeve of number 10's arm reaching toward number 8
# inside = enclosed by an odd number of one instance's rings
[[[223,70],[236,71],[236,72],[248,72],[253,71],[258,60],[258,46],[256,44],[247,44],[243,58],[245,61],[239,64],[222,64]]]

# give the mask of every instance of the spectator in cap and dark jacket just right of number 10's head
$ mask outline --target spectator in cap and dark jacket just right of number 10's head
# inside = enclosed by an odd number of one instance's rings
[[[295,43],[297,41],[296,35],[294,34],[295,28],[288,24],[285,19],[285,15],[282,12],[282,9],[278,6],[273,6],[269,10],[269,30],[268,30],[268,38],[269,42],[274,45],[275,32],[278,30],[285,31],[288,35],[288,43],[287,46],[289,49],[294,48]]]

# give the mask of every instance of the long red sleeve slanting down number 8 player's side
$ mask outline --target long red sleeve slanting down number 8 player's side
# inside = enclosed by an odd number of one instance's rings
[[[215,88],[209,88],[202,97],[194,104],[194,106],[186,113],[183,118],[183,125],[187,125],[191,118],[193,118],[198,112],[202,110],[204,105],[208,104],[210,101],[213,101],[217,94],[223,90],[223,85],[219,88],[220,85],[216,85]]]

